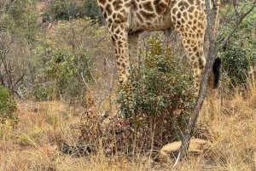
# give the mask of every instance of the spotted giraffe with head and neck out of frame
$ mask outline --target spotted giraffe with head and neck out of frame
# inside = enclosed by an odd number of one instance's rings
[[[219,10],[220,0],[211,1]],[[183,48],[193,70],[195,90],[198,92],[206,65],[205,0],[97,0],[97,2],[112,37],[119,83],[127,83],[130,59],[137,55],[140,33],[175,30],[182,39]],[[216,31],[217,28],[218,20],[215,21],[214,30]]]

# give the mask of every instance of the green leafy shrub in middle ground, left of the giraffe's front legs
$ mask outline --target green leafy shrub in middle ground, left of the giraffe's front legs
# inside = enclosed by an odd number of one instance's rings
[[[53,58],[47,62],[46,73],[48,80],[52,83],[46,90],[34,93],[37,100],[64,98],[78,98],[84,95],[85,83],[92,82],[92,61],[90,54],[86,51],[77,53],[66,52],[58,49]],[[48,98],[46,98],[48,94]],[[38,98],[40,97],[40,98]]]

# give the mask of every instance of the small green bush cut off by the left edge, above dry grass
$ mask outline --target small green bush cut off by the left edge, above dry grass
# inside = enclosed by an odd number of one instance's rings
[[[0,85],[0,123],[5,123],[6,120],[17,123],[18,117],[15,115],[16,109],[16,102],[9,89],[3,88],[3,86]]]

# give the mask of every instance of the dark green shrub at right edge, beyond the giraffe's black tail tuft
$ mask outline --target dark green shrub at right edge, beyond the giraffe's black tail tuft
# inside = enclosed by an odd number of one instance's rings
[[[241,2],[237,2],[241,3]],[[249,3],[248,3],[249,4]],[[241,3],[236,10],[245,10],[249,8],[249,5]],[[224,25],[221,25],[221,30],[218,32],[219,37],[224,37],[228,31],[234,26],[236,20],[230,20],[236,16],[236,11],[230,8],[224,8],[222,10],[224,15]],[[255,21],[256,14],[252,13],[248,15],[238,26],[237,31],[230,38],[230,42],[227,43],[223,51],[222,56],[222,71],[225,74],[224,84],[232,90],[232,88],[241,86],[247,83],[247,76],[250,66],[256,66],[256,41],[252,37],[254,34],[254,26],[252,23]],[[222,74],[224,76],[224,74]],[[230,82],[227,83],[227,79]]]

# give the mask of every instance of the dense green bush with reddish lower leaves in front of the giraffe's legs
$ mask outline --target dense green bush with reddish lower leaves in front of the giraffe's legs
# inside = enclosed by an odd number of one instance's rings
[[[131,84],[119,95],[120,110],[134,128],[144,130],[149,123],[156,124],[158,142],[180,140],[195,102],[192,79],[170,49],[162,53],[160,39],[151,38],[148,43],[149,50],[142,57],[144,66],[132,68]]]

